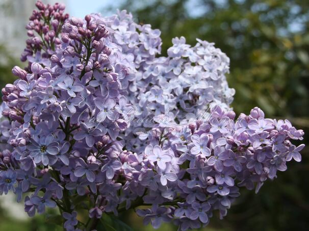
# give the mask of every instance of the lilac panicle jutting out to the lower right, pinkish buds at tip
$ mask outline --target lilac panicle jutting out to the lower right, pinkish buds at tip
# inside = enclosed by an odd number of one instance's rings
[[[236,122],[234,117],[216,106],[203,121],[169,123],[168,129],[160,125],[161,138],[152,139],[142,154],[150,169],[139,180],[148,186],[144,201],[152,204],[137,211],[145,223],[158,228],[174,221],[179,230],[199,228],[209,223],[214,210],[225,216],[240,187],[257,192],[277,170],[287,169],[287,161],[301,161],[304,145],[296,147],[291,139],[301,140],[304,133],[288,120],[266,119],[257,107]]]

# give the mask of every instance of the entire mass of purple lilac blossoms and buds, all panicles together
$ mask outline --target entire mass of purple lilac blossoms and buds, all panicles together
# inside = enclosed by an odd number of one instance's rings
[[[13,68],[0,108],[0,193],[24,195],[29,216],[58,207],[65,229],[92,230],[103,214],[148,206],[145,224],[198,228],[225,216],[239,187],[258,191],[301,160],[290,140],[303,131],[289,121],[259,108],[235,120],[214,44],[175,38],[157,57],[161,32],[125,11],[68,19],[63,5],[36,6],[28,68]]]

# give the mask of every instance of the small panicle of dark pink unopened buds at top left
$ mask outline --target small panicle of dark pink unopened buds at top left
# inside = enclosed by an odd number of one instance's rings
[[[64,13],[64,4],[56,3],[51,6],[38,1],[36,7],[37,10],[32,12],[26,26],[29,39],[20,59],[22,62],[28,61],[29,65],[39,63],[47,67],[50,55],[54,54],[55,48],[61,44],[59,34],[69,15]]]

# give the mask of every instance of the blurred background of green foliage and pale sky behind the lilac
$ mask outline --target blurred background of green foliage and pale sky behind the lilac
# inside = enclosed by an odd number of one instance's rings
[[[54,3],[56,1],[43,1]],[[239,114],[254,106],[267,117],[289,119],[305,131],[302,162],[290,162],[288,171],[264,184],[259,194],[241,190],[223,220],[217,214],[208,227],[213,231],[309,230],[309,1],[306,0],[64,0],[72,16],[101,12],[111,15],[127,9],[138,23],[162,31],[162,53],[171,39],[185,36],[215,42],[230,57],[228,83],[236,89],[232,106]],[[11,69],[23,65],[28,17],[34,0],[0,0],[0,86],[13,81]],[[46,216],[27,218],[14,196],[0,196],[0,230],[62,230]],[[50,213],[57,213],[51,210]],[[134,213],[121,220],[134,230],[150,231]],[[47,225],[48,224],[48,225]],[[176,230],[164,224],[159,230]]]

